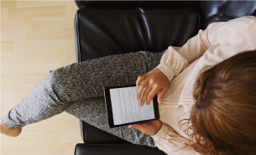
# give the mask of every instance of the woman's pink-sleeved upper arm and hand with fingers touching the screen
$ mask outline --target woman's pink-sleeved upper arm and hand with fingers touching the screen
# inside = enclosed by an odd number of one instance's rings
[[[206,30],[200,30],[195,37],[189,39],[179,50],[175,50],[170,46],[162,56],[160,64],[156,67],[158,70],[154,69],[154,72],[158,72],[157,75],[138,76],[136,85],[138,99],[141,98],[140,103],[144,104],[146,100],[150,102],[158,92],[158,101],[160,102],[169,88],[166,79],[170,82],[175,75],[180,74],[188,64],[200,58],[209,48],[219,45],[242,45],[245,46],[245,49],[248,46],[253,49],[255,42],[252,41],[254,35],[251,33],[255,32],[255,20],[255,17],[247,16],[236,18],[229,22],[212,23]],[[239,49],[243,48],[240,47]],[[222,56],[222,54],[218,55]],[[159,78],[162,79],[159,80]],[[143,85],[140,85],[142,81],[144,81]],[[141,97],[144,88],[146,89]]]

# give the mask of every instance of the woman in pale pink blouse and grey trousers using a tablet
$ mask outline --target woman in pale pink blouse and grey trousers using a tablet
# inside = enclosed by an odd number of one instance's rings
[[[3,117],[2,132],[18,136],[21,127],[67,111],[168,154],[253,154],[255,34],[255,17],[237,18],[212,23],[181,48],[170,46],[163,56],[113,55],[51,71]],[[102,88],[135,82],[141,106],[158,93],[160,119],[109,128]]]

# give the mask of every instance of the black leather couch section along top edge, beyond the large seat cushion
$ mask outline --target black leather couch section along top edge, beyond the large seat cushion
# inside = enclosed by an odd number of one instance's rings
[[[194,8],[200,13],[201,28],[246,15],[256,16],[256,1],[77,1],[78,8]]]

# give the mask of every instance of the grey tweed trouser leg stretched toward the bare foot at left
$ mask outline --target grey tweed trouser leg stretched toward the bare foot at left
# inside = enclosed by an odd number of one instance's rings
[[[102,97],[106,86],[134,85],[138,75],[159,64],[162,54],[117,54],[50,71],[3,117],[3,123],[10,128],[24,127],[55,116],[76,102]]]

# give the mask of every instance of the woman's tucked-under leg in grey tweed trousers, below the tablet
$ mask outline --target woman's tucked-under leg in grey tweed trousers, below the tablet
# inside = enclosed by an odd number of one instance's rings
[[[93,111],[93,112],[92,112]],[[72,104],[66,112],[76,116],[82,121],[86,121],[91,126],[97,127],[102,131],[121,137],[133,144],[156,147],[154,139],[134,128],[128,126],[110,128],[107,121],[107,111],[104,97],[86,99]]]

